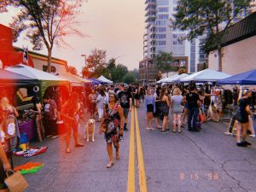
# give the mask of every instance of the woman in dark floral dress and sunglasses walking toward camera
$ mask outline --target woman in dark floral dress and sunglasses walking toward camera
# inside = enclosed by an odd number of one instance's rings
[[[123,135],[123,108],[118,104],[118,96],[113,92],[109,92],[109,103],[105,106],[102,123],[100,125],[100,133],[104,132],[107,142],[107,151],[109,162],[107,168],[113,166],[113,147],[115,148],[115,158],[119,160],[119,134]]]

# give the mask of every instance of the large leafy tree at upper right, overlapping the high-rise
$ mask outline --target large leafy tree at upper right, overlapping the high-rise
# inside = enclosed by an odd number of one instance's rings
[[[217,47],[218,71],[222,71],[221,42],[227,28],[234,20],[251,7],[253,0],[180,0],[172,28],[186,31],[186,38],[192,41],[207,34],[204,49]]]

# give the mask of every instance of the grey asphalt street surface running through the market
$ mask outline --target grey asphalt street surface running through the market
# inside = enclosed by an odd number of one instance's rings
[[[236,147],[235,137],[225,136],[226,126],[207,122],[200,132],[161,133],[145,129],[144,108],[137,108],[142,140],[144,186],[152,192],[255,192],[256,191],[256,141],[251,147]],[[129,117],[131,119],[131,115]],[[131,121],[130,121],[131,122]],[[171,121],[170,121],[171,122]],[[96,123],[98,129],[99,123]],[[171,126],[171,125],[170,125]],[[129,128],[130,124],[129,124]],[[85,143],[84,148],[72,148],[65,153],[65,137],[46,139],[48,151],[32,158],[15,157],[15,166],[42,162],[44,167],[35,174],[27,174],[31,192],[122,192],[127,191],[128,172],[135,171],[136,191],[142,191],[139,180],[141,168],[137,155],[138,137],[135,132],[134,167],[129,165],[131,130],[125,132],[125,142],[120,143],[120,160],[106,168],[108,154],[103,135],[96,131],[96,142]],[[73,138],[72,138],[73,142]],[[130,170],[129,170],[130,167]],[[139,172],[138,172],[139,170]],[[130,189],[130,188],[129,188]]]

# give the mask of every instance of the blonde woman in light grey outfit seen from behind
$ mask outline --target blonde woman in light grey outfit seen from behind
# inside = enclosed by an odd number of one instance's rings
[[[178,87],[174,88],[172,91],[171,97],[171,106],[172,106],[172,132],[176,132],[176,125],[177,125],[177,132],[181,132],[181,113],[182,109],[182,102],[183,96],[181,96],[181,91]]]

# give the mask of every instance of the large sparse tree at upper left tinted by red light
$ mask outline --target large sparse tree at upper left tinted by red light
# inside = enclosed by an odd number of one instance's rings
[[[33,49],[48,51],[48,72],[50,72],[51,55],[54,44],[67,45],[65,39],[68,35],[83,36],[76,29],[75,20],[83,0],[16,0],[10,3],[20,10],[15,15],[10,27],[13,29],[15,40],[21,32],[33,44]]]

